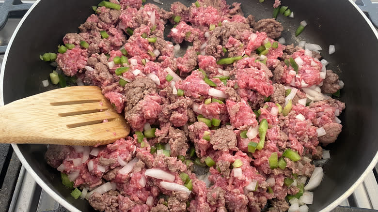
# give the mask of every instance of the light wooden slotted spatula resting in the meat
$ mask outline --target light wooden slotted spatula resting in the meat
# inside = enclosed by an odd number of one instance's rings
[[[95,146],[129,132],[96,86],[56,89],[0,107],[0,143]]]

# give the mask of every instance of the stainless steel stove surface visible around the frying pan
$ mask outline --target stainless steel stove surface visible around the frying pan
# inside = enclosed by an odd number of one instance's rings
[[[366,4],[366,1],[363,3]],[[372,1],[378,3],[378,0]],[[0,29],[3,27],[0,30],[0,67],[10,37],[26,10],[34,2],[0,0]],[[4,20],[5,25],[2,23]],[[333,212],[378,212],[377,171],[378,166]],[[0,212],[67,212],[32,179],[8,144],[0,144],[0,188]]]

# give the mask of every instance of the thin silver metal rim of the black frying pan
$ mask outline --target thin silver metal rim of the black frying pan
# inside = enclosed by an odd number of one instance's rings
[[[4,106],[4,98],[3,98],[3,80],[4,80],[4,72],[5,72],[5,65],[6,64],[6,61],[7,61],[7,58],[8,58],[8,54],[9,54],[9,51],[10,51],[10,48],[12,46],[12,43],[16,37],[16,34],[18,32],[18,30],[21,28],[23,22],[25,21],[25,19],[29,16],[29,14],[31,13],[31,11],[34,9],[34,7],[40,2],[41,0],[37,0],[32,6],[31,8],[28,10],[28,12],[24,15],[24,17],[21,19],[21,21],[19,22],[19,24],[17,25],[16,27],[16,30],[14,31],[10,41],[9,41],[9,44],[8,44],[8,47],[5,51],[5,55],[4,55],[4,60],[2,62],[2,66],[1,66],[1,71],[0,71],[0,106]],[[376,35],[377,37],[377,40],[378,40],[378,31],[375,29],[375,27],[373,26],[373,24],[371,23],[371,21],[368,19],[368,17],[362,12],[362,10],[358,7],[358,5],[356,5],[356,3],[353,1],[353,0],[348,0],[349,3],[351,3],[355,8],[356,10],[360,13],[360,15],[362,15],[362,17],[365,19],[365,21],[368,23],[368,25],[370,26],[371,30],[373,30],[374,34]],[[71,212],[80,212],[74,205],[70,204],[68,201],[66,201],[63,197],[59,196],[56,192],[54,192],[37,174],[36,172],[32,169],[32,167],[29,165],[28,161],[25,159],[24,155],[21,153],[21,151],[19,150],[18,148],[18,145],[17,144],[12,144],[12,147],[14,149],[14,151],[16,152],[16,155],[17,157],[19,158],[20,162],[22,163],[22,165],[25,167],[25,169],[28,171],[28,173],[33,177],[33,179],[35,180],[35,182],[38,183],[39,186],[41,186],[41,188],[43,190],[45,190],[47,192],[48,195],[50,195],[52,198],[54,198],[57,202],[59,202],[64,208],[66,208],[67,210],[71,211]],[[347,197],[349,197],[354,190],[356,190],[357,186],[359,186],[362,181],[365,179],[365,177],[367,176],[367,174],[373,169],[373,167],[378,163],[378,151],[376,153],[376,155],[374,156],[373,160],[371,161],[371,163],[369,164],[369,166],[362,172],[361,176],[357,179],[356,182],[354,182],[348,189],[346,192],[344,192],[343,195],[341,195],[340,197],[338,197],[337,199],[335,199],[333,202],[331,202],[331,204],[327,205],[325,208],[323,208],[320,212],[330,212],[332,209],[334,209],[337,205],[339,205],[344,199],[346,199]]]

